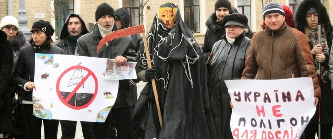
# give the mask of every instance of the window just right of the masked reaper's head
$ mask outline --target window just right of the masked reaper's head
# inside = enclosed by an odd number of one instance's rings
[[[193,33],[200,32],[199,0],[184,0],[184,22]]]

